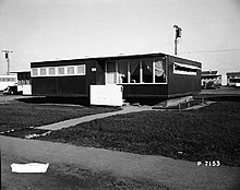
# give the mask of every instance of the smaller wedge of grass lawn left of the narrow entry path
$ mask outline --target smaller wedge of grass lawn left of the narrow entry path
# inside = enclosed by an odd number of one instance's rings
[[[115,110],[118,109],[112,107],[41,105],[14,100],[10,104],[0,104],[0,132]]]

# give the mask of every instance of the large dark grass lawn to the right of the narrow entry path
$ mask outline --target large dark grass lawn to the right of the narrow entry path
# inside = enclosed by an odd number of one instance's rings
[[[117,115],[52,131],[39,139],[240,166],[240,102],[218,102],[188,111]]]

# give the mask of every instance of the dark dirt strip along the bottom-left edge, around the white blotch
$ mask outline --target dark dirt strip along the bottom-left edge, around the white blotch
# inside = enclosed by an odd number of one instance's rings
[[[29,163],[17,156],[2,155],[1,157],[1,189],[163,189],[168,188],[151,181],[136,181],[130,178],[119,178],[106,173],[94,173],[74,165],[50,164],[46,174],[16,174],[12,173],[12,163]]]

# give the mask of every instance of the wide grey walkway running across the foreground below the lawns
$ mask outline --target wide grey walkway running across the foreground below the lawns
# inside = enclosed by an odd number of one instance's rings
[[[136,180],[153,180],[169,189],[237,189],[240,168],[196,166],[178,161],[38,140],[1,136],[1,154],[51,165],[73,165]]]

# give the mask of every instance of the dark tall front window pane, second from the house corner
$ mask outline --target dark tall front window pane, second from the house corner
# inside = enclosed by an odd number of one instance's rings
[[[142,59],[143,83],[153,83],[153,59]]]

